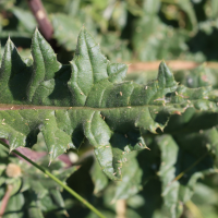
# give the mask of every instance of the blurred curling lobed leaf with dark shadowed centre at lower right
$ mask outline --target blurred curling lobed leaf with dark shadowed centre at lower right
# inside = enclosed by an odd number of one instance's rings
[[[207,173],[214,172],[213,159],[208,155],[210,146],[217,146],[216,137],[211,137],[213,130],[203,134],[192,133],[180,135],[177,142],[170,135],[157,138],[161,150],[161,165],[158,172],[162,182],[162,197],[171,218],[179,218],[183,211],[183,204],[191,199],[196,181]],[[209,145],[209,141],[214,143]],[[182,173],[181,179],[177,175]]]

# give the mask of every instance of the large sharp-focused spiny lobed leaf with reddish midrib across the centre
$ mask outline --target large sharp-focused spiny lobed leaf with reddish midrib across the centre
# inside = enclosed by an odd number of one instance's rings
[[[121,179],[131,150],[146,148],[143,134],[164,131],[170,114],[187,108],[217,111],[211,87],[179,86],[165,62],[147,85],[122,82],[128,66],[110,63],[83,27],[70,65],[57,61],[36,29],[32,59],[22,59],[9,39],[0,69],[0,137],[10,149],[32,146],[43,133],[50,161],[86,137],[102,171]]]

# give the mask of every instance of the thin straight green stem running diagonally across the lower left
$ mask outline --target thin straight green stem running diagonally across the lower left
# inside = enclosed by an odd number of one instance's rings
[[[0,141],[0,144],[2,144],[4,147],[9,148],[9,145],[3,143],[2,141]],[[28,159],[26,156],[22,155],[20,152],[17,150],[13,150],[13,153],[15,153],[16,155],[19,155],[20,157],[22,157],[23,159],[25,159],[26,161],[31,162],[34,167],[36,167],[37,169],[39,169],[41,172],[44,172],[45,174],[47,174],[49,178],[51,178],[53,181],[56,181],[58,184],[60,184],[64,190],[66,190],[71,195],[73,195],[75,198],[77,198],[80,202],[82,202],[85,206],[87,206],[93,213],[95,213],[98,217],[100,218],[106,218],[98,209],[96,209],[92,204],[89,204],[86,199],[84,199],[81,195],[78,195],[76,192],[74,192],[71,187],[69,187],[66,184],[64,184],[63,182],[61,182],[57,177],[55,177],[53,174],[51,174],[48,170],[44,169],[43,167],[40,167],[39,165],[37,165],[36,162],[32,161],[31,159]]]

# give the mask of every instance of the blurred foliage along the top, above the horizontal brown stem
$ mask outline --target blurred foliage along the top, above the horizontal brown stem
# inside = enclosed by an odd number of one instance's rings
[[[216,0],[43,0],[59,59],[68,63],[81,26],[112,61],[217,60]],[[0,39],[29,48],[36,26],[25,0],[0,2]]]

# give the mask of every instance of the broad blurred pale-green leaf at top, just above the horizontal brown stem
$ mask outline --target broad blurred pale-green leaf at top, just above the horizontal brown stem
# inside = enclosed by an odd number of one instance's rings
[[[186,4],[185,0],[184,8],[192,11]],[[159,9],[159,0],[144,1],[143,15],[134,20],[132,44],[141,61],[174,59],[187,50],[186,34],[162,23]]]

